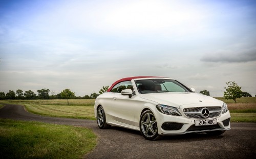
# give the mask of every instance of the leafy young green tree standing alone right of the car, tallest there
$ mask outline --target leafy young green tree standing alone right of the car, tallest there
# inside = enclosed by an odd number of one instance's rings
[[[224,87],[224,99],[233,99],[234,102],[237,102],[236,99],[242,97],[241,87],[238,86],[235,82],[229,81],[226,82],[227,87]]]

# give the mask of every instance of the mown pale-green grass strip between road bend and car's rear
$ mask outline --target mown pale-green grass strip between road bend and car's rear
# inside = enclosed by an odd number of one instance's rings
[[[39,104],[23,105],[25,105],[25,108],[29,112],[38,115],[96,120],[94,117],[94,107]]]

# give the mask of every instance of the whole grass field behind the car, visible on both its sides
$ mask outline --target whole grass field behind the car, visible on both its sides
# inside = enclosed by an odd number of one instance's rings
[[[237,103],[223,97],[217,99],[227,103],[232,122],[256,122],[256,97],[238,98]],[[95,99],[70,99],[69,106],[65,99],[0,100],[0,102],[23,104],[29,112],[39,115],[95,120],[93,108]]]

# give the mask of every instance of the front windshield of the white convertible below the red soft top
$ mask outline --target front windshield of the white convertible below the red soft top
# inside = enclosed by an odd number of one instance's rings
[[[162,92],[190,92],[179,82],[169,79],[137,80],[135,83],[141,94]]]

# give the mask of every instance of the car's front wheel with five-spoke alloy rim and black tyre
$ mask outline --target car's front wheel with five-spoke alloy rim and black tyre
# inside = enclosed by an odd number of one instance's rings
[[[159,138],[156,117],[150,110],[144,111],[140,116],[140,133],[147,140]]]

